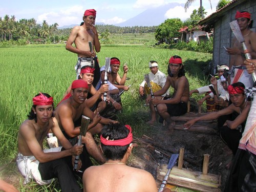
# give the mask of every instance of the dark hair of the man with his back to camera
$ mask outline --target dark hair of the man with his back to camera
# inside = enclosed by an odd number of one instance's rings
[[[105,125],[101,131],[103,138],[109,137],[109,140],[124,139],[128,136],[129,130],[120,123]],[[102,151],[107,160],[121,160],[130,144],[125,146],[104,145],[101,143]]]

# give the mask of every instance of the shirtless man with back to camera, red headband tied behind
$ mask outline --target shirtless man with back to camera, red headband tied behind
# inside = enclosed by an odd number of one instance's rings
[[[100,141],[107,161],[103,165],[91,166],[84,172],[83,191],[157,191],[156,181],[150,173],[126,165],[133,148],[130,125],[105,125]],[[97,182],[99,178],[101,180]]]

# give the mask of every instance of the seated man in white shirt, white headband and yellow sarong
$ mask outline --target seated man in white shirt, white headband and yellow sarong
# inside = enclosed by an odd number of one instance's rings
[[[151,73],[149,73],[151,88],[153,93],[155,93],[164,87],[164,84],[166,82],[166,76],[164,73],[162,73],[158,69],[157,61],[151,60],[148,64],[148,67],[150,68],[150,71],[151,71]],[[148,88],[148,85],[146,84],[145,80],[142,81],[139,88],[139,94],[143,96],[144,93],[146,95],[151,94],[150,89]],[[169,91],[167,90],[167,92],[164,93],[162,96],[160,96],[159,99],[168,95],[169,95]],[[147,123],[154,124],[156,122],[156,111],[154,109],[153,104],[150,104],[150,112],[151,112],[151,120],[148,121]]]

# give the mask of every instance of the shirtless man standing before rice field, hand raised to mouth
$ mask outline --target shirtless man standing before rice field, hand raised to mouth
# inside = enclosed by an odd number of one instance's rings
[[[78,56],[78,61],[75,66],[76,77],[78,79],[80,75],[80,70],[83,66],[92,66],[92,60],[94,62],[95,72],[95,83],[98,82],[100,78],[99,63],[97,60],[96,52],[100,52],[100,42],[98,37],[98,32],[95,27],[96,11],[94,9],[88,9],[83,14],[83,25],[75,26],[68,38],[66,49],[76,53]],[[89,41],[92,42],[92,52],[90,51]],[[72,44],[75,43],[75,47]],[[94,51],[95,50],[95,51]]]

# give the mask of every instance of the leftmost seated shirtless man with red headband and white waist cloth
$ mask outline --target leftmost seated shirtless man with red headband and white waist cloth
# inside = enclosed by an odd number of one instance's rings
[[[53,98],[47,93],[39,93],[33,98],[28,119],[18,131],[18,169],[26,177],[25,184],[31,178],[40,185],[50,184],[53,178],[58,178],[62,191],[80,191],[71,163],[72,156],[80,155],[83,148],[72,146],[62,134],[53,110]],[[50,130],[62,147],[43,149],[43,141]],[[81,161],[78,169],[80,167]]]

